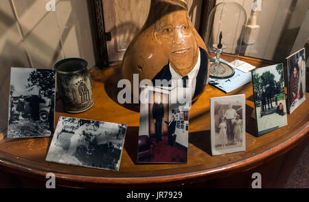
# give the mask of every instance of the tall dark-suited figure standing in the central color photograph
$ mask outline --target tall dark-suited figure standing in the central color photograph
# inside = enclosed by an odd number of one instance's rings
[[[162,119],[164,117],[164,105],[162,102],[155,102],[152,106],[152,116],[155,121],[156,142],[162,140]]]

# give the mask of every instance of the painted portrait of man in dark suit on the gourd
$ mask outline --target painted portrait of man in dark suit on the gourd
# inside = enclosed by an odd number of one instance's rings
[[[152,79],[171,81],[172,87],[191,88],[192,98],[203,92],[207,82],[207,51],[198,47],[189,16],[184,10],[171,12],[160,18],[152,31],[155,41],[161,45],[168,64]],[[187,17],[186,17],[187,16]],[[163,85],[166,86],[166,85]]]

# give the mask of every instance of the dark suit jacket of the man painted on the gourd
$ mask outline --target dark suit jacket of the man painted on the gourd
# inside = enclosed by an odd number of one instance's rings
[[[207,75],[208,75],[208,53],[199,47],[201,52],[201,64],[200,68],[198,70],[198,74],[196,75],[196,87],[194,91],[194,97],[196,97],[198,94],[201,94],[203,92],[206,82],[207,82]],[[170,62],[169,62],[170,63]],[[155,86],[155,80],[163,80],[166,79],[170,81],[172,79],[172,74],[170,73],[170,66],[169,63],[163,66],[161,71],[155,75],[155,77],[152,79],[152,85]],[[171,87],[171,86],[170,86]]]

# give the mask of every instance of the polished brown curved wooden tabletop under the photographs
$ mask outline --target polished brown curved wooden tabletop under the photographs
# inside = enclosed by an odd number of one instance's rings
[[[240,59],[255,66],[271,64],[257,59]],[[119,105],[115,101],[119,91],[117,81],[120,78],[120,66],[121,64],[115,64],[103,71],[98,68],[91,70],[95,101],[93,108],[81,114],[67,114],[61,108],[60,99],[57,99],[55,117],[55,124],[59,116],[127,124],[119,171],[45,162],[52,138],[8,139],[5,134],[0,134],[0,169],[41,181],[46,180],[46,173],[55,173],[58,185],[62,186],[181,186],[254,170],[276,157],[282,157],[304,140],[308,140],[308,99],[293,114],[288,115],[288,126],[257,138],[255,120],[251,118],[254,108],[252,84],[229,94],[208,85],[190,110],[187,164],[137,164],[138,105]],[[238,153],[211,156],[209,98],[230,94],[246,95],[247,149]],[[306,95],[309,98],[309,94]]]

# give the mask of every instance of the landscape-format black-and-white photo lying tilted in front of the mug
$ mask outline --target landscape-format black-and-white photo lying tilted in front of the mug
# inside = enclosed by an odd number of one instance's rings
[[[46,161],[118,171],[126,127],[60,116]]]

